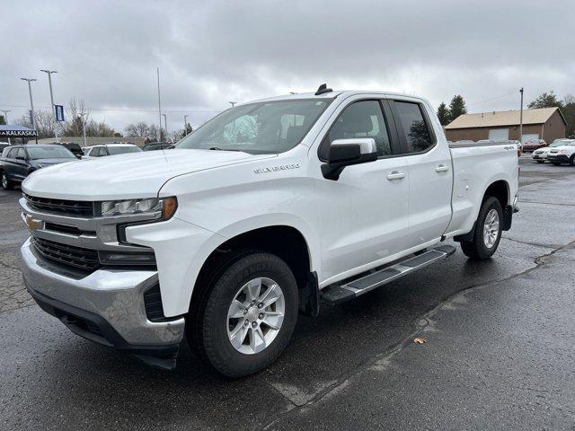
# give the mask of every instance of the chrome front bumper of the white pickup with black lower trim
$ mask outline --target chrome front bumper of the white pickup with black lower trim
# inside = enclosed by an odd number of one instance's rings
[[[157,285],[156,271],[98,269],[87,276],[76,274],[43,259],[30,239],[21,255],[30,294],[70,330],[153,365],[175,365],[184,319],[149,321],[146,316],[144,292]]]

